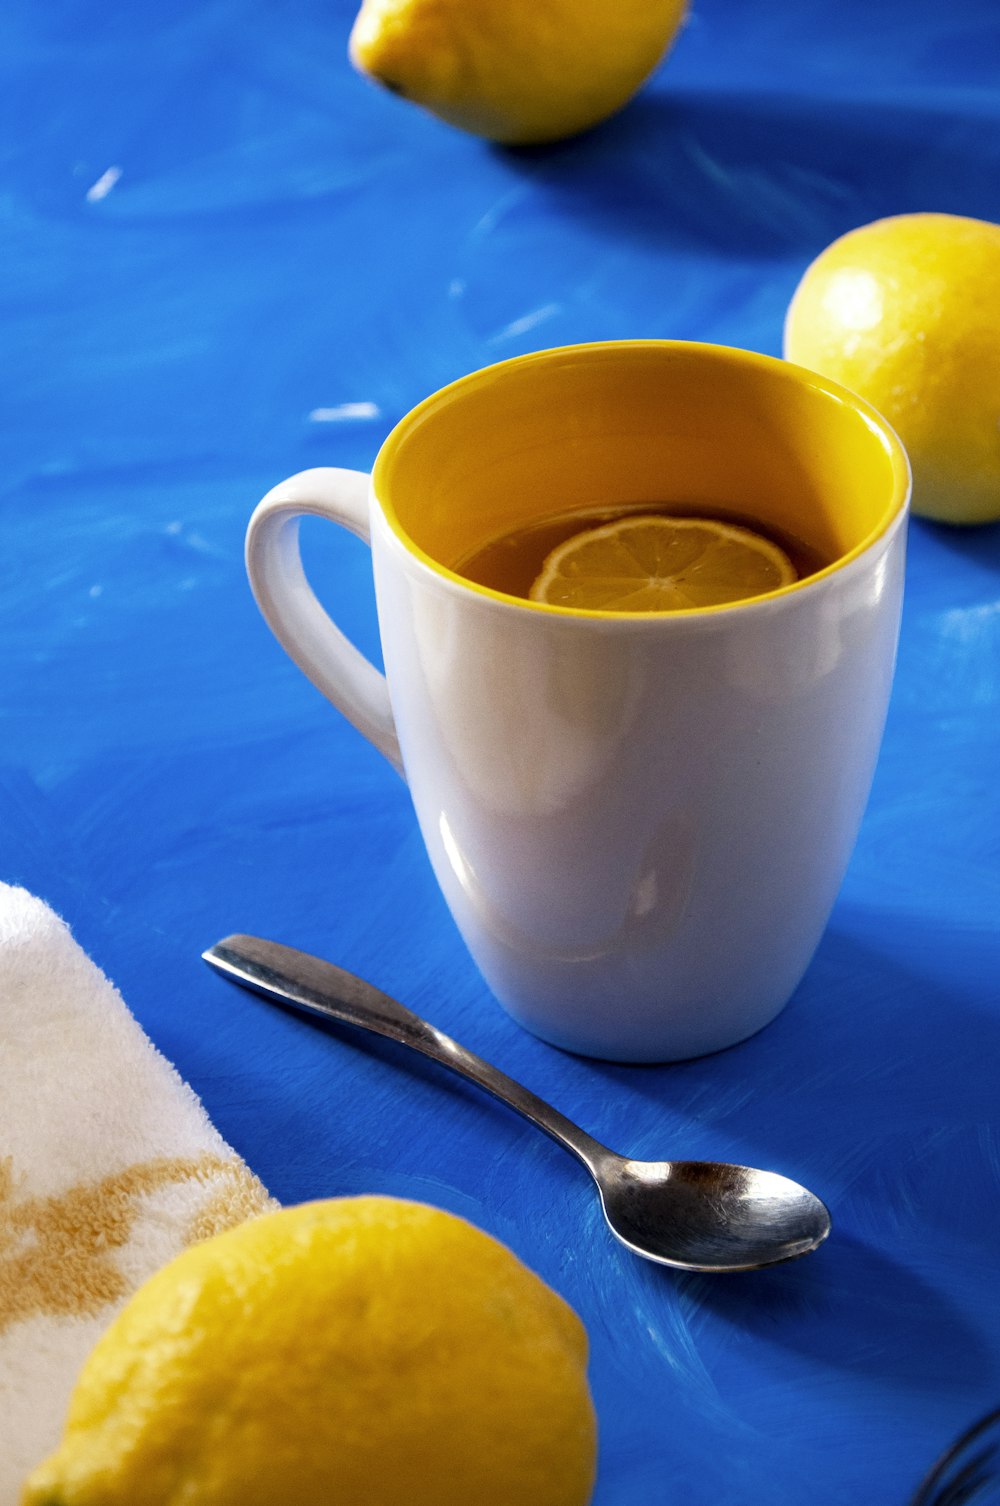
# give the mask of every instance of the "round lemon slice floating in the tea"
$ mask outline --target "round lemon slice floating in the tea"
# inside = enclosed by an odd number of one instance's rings
[[[785,550],[752,529],[637,514],[559,544],[529,595],[553,607],[678,611],[745,601],[794,580]]]

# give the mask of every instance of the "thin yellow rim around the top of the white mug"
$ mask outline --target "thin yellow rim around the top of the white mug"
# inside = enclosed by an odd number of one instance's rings
[[[843,554],[839,554],[834,560],[831,560],[830,565],[824,565],[822,569],[818,569],[812,575],[806,575],[801,580],[795,580],[788,586],[780,586],[777,590],[762,592],[759,596],[747,596],[742,601],[726,601],[708,607],[678,607],[670,611],[605,611],[595,607],[560,607],[547,601],[530,601],[524,596],[515,596],[511,592],[495,590],[492,586],[482,586],[479,581],[468,580],[465,575],[450,569],[432,554],[428,554],[426,550],[420,548],[416,539],[413,539],[413,536],[404,529],[395,508],[387,505],[384,497],[380,494],[380,482],[386,480],[386,471],[393,459],[396,447],[410,428],[419,423],[428,411],[437,407],[443,399],[453,398],[462,392],[462,389],[476,387],[483,381],[488,381],[495,372],[515,366],[529,366],[554,357],[596,355],[599,352],[611,354],[619,351],[642,349],[699,352],[717,357],[736,366],[780,372],[782,375],[791,376],[791,380],[797,381],[800,386],[816,389],[818,392],[822,392],[827,396],[834,398],[837,402],[852,408],[864,420],[867,428],[881,438],[892,464],[892,495],[889,505],[880,515],[877,526],[870,529],[851,550],[846,550]],[[717,345],[708,340],[666,339],[587,340],[575,345],[551,345],[539,351],[526,351],[521,355],[511,355],[503,361],[492,361],[488,366],[479,366],[476,370],[467,372],[464,376],[458,376],[455,381],[446,383],[444,387],[438,387],[435,392],[428,393],[426,398],[423,398],[416,407],[410,408],[402,419],[399,419],[399,422],[383,440],[378,455],[375,456],[370,476],[372,500],[378,506],[390,535],[410,559],[420,562],[420,565],[438,578],[447,581],[453,587],[461,587],[471,595],[483,596],[488,601],[503,604],[505,607],[520,607],[526,611],[541,611],[548,616],[577,620],[589,619],[604,623],[611,620],[630,623],[663,623],[664,620],[673,622],[678,619],[691,620],[696,617],[709,617],[732,611],[747,611],[750,608],[764,607],[770,602],[777,602],[788,596],[795,596],[810,590],[863,559],[881,539],[886,539],[890,533],[893,533],[895,527],[899,526],[907,517],[911,489],[913,474],[910,468],[910,458],[904,449],[902,440],[889,420],[884,419],[883,414],[878,413],[878,410],[873,408],[864,398],[858,396],[858,393],[851,392],[840,383],[831,381],[828,376],[822,376],[819,372],[813,372],[806,366],[798,366],[779,355],[764,355],[759,351],[745,351],[738,345]]]

